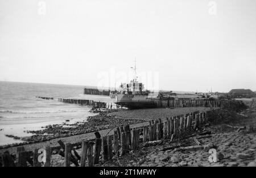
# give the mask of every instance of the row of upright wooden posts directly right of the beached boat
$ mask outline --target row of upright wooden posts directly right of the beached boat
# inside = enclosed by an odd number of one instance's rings
[[[179,99],[179,100],[155,100],[158,108],[183,108],[183,107],[221,107],[226,100],[209,99]]]

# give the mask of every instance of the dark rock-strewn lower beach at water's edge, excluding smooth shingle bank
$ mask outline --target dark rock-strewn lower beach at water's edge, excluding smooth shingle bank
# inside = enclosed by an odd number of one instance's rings
[[[144,120],[121,119],[115,118],[114,116],[106,116],[106,113],[109,112],[116,112],[116,109],[108,112],[104,111],[98,113],[97,115],[88,116],[84,119],[84,121],[71,122],[71,124],[69,124],[69,120],[67,120],[63,124],[50,124],[42,126],[42,129],[26,130],[27,135],[24,137],[5,134],[6,137],[14,138],[15,140],[19,140],[20,142],[12,143],[9,145],[2,145],[0,146],[0,149],[50,141],[51,139],[55,138],[65,138],[73,135],[80,135],[90,132],[96,132],[98,130],[115,128],[121,125],[130,125],[144,122]]]

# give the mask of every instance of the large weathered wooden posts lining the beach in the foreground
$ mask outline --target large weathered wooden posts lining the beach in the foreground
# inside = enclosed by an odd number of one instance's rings
[[[78,154],[71,143],[58,142],[61,149],[57,152],[64,157],[64,166],[94,166],[112,160],[113,157],[120,157],[129,154],[130,151],[140,150],[143,145],[151,146],[163,140],[180,139],[193,135],[208,121],[208,112],[191,112],[185,115],[170,118],[159,118],[150,120],[147,126],[130,129],[130,125],[114,129],[113,135],[100,135],[95,132],[96,138],[90,141],[81,141],[81,154]],[[194,134],[195,135],[195,134]],[[154,146],[154,145],[153,145]],[[197,146],[199,146],[197,144]],[[202,146],[200,146],[202,147]],[[40,160],[44,155],[44,160]],[[15,159],[14,159],[15,157]],[[1,166],[52,166],[52,149],[49,146],[38,148],[34,151],[26,151],[24,147],[18,147],[16,155],[10,155],[5,151],[1,156]]]

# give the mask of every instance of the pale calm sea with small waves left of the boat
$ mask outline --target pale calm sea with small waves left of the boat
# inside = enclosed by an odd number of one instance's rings
[[[84,95],[85,86],[64,84],[0,82],[0,145],[22,142],[6,137],[31,135],[27,130],[39,130],[46,125],[73,124],[86,121],[91,107],[67,104],[57,98],[76,98],[103,101],[108,104],[114,99],[102,95]],[[87,86],[86,86],[87,87]],[[55,100],[44,100],[36,96],[47,96]],[[69,121],[68,121],[69,120]]]

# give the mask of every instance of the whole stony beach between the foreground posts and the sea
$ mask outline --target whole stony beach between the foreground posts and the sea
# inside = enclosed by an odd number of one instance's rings
[[[95,138],[94,132],[97,132],[97,131],[104,134],[106,132],[109,132],[109,130],[113,128],[116,128],[118,126],[123,126],[123,125],[130,125],[131,128],[146,126],[146,125],[143,125],[143,123],[146,122],[146,124],[148,124],[147,123],[148,119],[156,119],[161,116],[162,118],[164,118],[165,115],[167,115],[168,117],[171,117],[171,116],[181,115],[181,114],[189,113],[193,111],[208,111],[210,109],[214,109],[214,108],[192,107],[192,108],[174,108],[174,109],[170,109],[170,108],[136,109],[136,110],[127,110],[127,111],[118,111],[118,112],[114,111],[114,112],[108,113],[108,115],[106,115],[105,112],[102,112],[102,114],[89,116],[88,122],[80,122],[74,125],[71,124],[75,126],[71,129],[67,129],[66,127],[63,127],[65,125],[68,125],[68,124],[64,124],[64,125],[47,126],[46,129],[38,130],[34,132],[32,131],[32,133],[36,133],[36,136],[34,138],[32,135],[26,138],[28,139],[27,142],[0,146],[0,152],[3,152],[3,150],[13,150],[13,148],[16,148],[19,146],[24,146],[28,150],[32,148],[35,149],[37,146],[42,147],[43,145],[46,145],[46,144],[49,144],[51,147],[56,147],[56,146],[59,146],[59,144],[57,143],[59,139],[63,139],[64,142],[67,141],[70,143],[77,143],[85,139],[94,139]],[[138,115],[138,113],[142,113],[142,115],[144,115],[145,110],[149,114],[155,113],[155,115],[152,115],[154,117],[127,118],[127,113],[130,113],[129,116],[141,116],[141,115]],[[162,112],[159,112],[160,110]],[[88,124],[90,122],[90,119],[92,119],[91,125]],[[99,123],[101,123],[101,125],[98,125]],[[88,125],[86,126],[86,124]],[[86,131],[86,128],[90,128],[90,129]],[[65,131],[67,130],[68,130],[68,133],[65,133]],[[61,131],[61,132],[64,131],[64,133],[60,133],[60,135],[55,135],[58,133],[58,131]],[[48,134],[50,133],[51,135],[48,135],[48,136],[44,135],[46,133]]]

